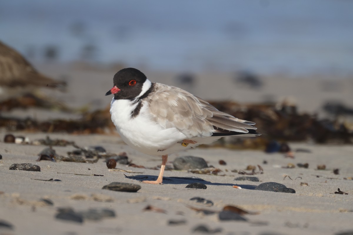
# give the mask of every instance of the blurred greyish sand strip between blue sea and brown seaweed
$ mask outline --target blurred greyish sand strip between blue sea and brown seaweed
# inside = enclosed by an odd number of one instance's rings
[[[130,67],[127,64],[100,66],[84,62],[35,64],[42,73],[68,83],[67,93],[51,93],[70,106],[89,106],[94,111],[104,109],[111,97],[104,94],[113,85],[113,76],[118,70]],[[311,76],[290,77],[285,74],[255,76],[261,85],[254,84],[251,77],[239,78],[239,72],[199,72],[152,70],[144,66],[141,70],[152,82],[177,86],[208,101],[235,101],[240,104],[282,103],[297,105],[299,113],[317,114],[320,118],[334,117],[324,110],[327,104],[340,103],[346,106],[353,100],[352,77]],[[250,76],[249,75],[249,76]],[[185,80],[183,77],[189,77]],[[191,79],[191,80],[190,80]],[[349,117],[348,117],[349,118]]]

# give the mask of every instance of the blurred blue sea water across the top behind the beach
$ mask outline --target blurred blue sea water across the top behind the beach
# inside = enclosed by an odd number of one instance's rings
[[[353,74],[349,0],[2,0],[0,40],[31,62]]]

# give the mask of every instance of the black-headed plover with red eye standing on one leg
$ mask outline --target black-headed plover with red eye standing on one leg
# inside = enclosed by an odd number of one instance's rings
[[[144,154],[162,156],[157,180],[162,184],[168,155],[212,143],[224,136],[258,136],[255,123],[217,110],[181,88],[151,82],[135,68],[113,78],[110,115],[122,140]]]

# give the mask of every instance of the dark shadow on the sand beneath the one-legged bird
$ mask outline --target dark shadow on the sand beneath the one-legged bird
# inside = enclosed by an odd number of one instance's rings
[[[126,178],[128,179],[133,179],[133,180],[156,180],[157,177],[154,175],[125,175]],[[237,185],[240,186],[241,188],[245,189],[255,189],[257,185],[247,185],[247,184],[225,184],[225,183],[212,183],[210,181],[197,178],[197,177],[163,177],[163,184],[192,184],[192,183],[202,183],[205,185],[224,185],[224,186],[233,186]]]

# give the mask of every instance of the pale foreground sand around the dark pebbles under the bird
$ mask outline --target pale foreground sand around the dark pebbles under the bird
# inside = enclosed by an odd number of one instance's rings
[[[5,133],[0,134],[0,140]],[[35,140],[46,134],[16,133]],[[102,146],[108,152],[126,151],[137,165],[155,167],[161,160],[132,150],[118,136],[50,134],[50,138],[65,138],[79,146]],[[9,144],[0,142],[0,219],[13,225],[13,230],[0,227],[0,234],[191,234],[197,225],[205,224],[210,229],[221,228],[220,234],[335,234],[353,231],[353,147],[321,146],[292,143],[292,149],[305,148],[312,153],[295,153],[295,158],[282,154],[265,154],[261,151],[228,150],[223,148],[197,148],[171,155],[167,165],[177,156],[203,157],[209,165],[220,168],[225,176],[192,174],[185,171],[166,171],[163,185],[140,183],[125,177],[156,178],[158,170],[117,165],[124,171],[109,170],[104,160],[97,163],[36,162],[37,154],[46,146]],[[74,148],[54,147],[59,155],[66,155]],[[218,161],[226,161],[226,166]],[[263,164],[266,160],[268,163]],[[288,163],[309,163],[309,168],[281,168]],[[33,163],[41,167],[40,172],[9,170],[13,163]],[[261,165],[263,174],[254,175],[261,182],[234,181],[241,176],[231,170],[245,169],[247,165]],[[318,171],[316,166],[325,164],[329,170]],[[339,168],[334,175],[332,169]],[[226,172],[226,169],[228,172]],[[70,174],[62,174],[70,173]],[[88,175],[75,175],[88,174]],[[104,176],[93,176],[98,174]],[[125,174],[125,175],[124,175]],[[293,180],[285,177],[288,175]],[[320,177],[316,177],[320,175]],[[180,177],[180,178],[171,178]],[[205,181],[206,190],[187,189],[190,177]],[[38,181],[34,179],[60,179],[61,181]],[[344,180],[343,178],[348,178]],[[349,180],[350,179],[350,180]],[[293,188],[296,193],[279,193],[250,190],[263,182],[277,182]],[[115,192],[101,188],[111,182],[138,184],[142,188],[136,193]],[[300,183],[308,186],[300,186]],[[233,188],[239,185],[243,189]],[[250,186],[251,185],[251,186]],[[334,194],[340,188],[348,194]],[[92,196],[93,194],[93,196]],[[98,195],[98,196],[94,196]],[[110,202],[99,202],[98,198],[110,198]],[[214,202],[206,207],[190,201],[202,197]],[[53,206],[38,203],[41,198],[52,200]],[[144,211],[156,206],[166,213]],[[225,205],[236,205],[257,215],[244,215],[248,222],[220,221],[217,214],[203,215],[187,207],[221,211]],[[71,207],[75,211],[89,208],[114,210],[115,218],[101,221],[85,220],[83,224],[66,222],[55,218],[56,209]],[[183,225],[168,225],[169,220],[185,220]]]

